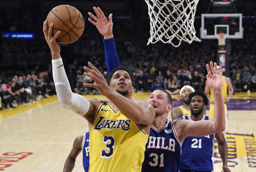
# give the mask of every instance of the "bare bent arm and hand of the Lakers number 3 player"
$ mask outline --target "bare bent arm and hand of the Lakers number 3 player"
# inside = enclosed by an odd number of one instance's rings
[[[96,83],[84,83],[84,86],[96,88],[101,95],[106,96],[131,121],[143,125],[151,125],[155,118],[155,110],[151,104],[147,102],[137,104],[117,93],[117,91],[108,86],[103,74],[92,63],[88,62],[88,65],[91,69],[84,66],[84,69],[88,71],[84,75],[92,78]]]

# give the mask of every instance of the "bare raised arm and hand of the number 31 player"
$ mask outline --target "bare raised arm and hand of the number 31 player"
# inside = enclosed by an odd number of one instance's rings
[[[207,69],[207,82],[212,89],[214,96],[214,117],[213,120],[202,120],[202,121],[190,121],[190,120],[179,120],[174,121],[176,131],[179,135],[180,141],[187,136],[205,136],[214,133],[219,133],[225,130],[225,112],[224,102],[222,98],[222,69],[220,66],[220,72],[218,72],[217,64],[210,62],[211,70],[209,65],[206,65]],[[212,71],[212,74],[211,74]],[[215,116],[216,115],[216,116]]]

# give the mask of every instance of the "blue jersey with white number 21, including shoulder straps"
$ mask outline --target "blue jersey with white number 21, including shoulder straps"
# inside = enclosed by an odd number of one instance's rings
[[[190,116],[183,116],[183,119],[192,120]],[[202,120],[211,120],[203,115]],[[182,154],[180,169],[195,171],[213,170],[213,149],[215,134],[203,137],[186,137],[182,143]],[[182,170],[181,170],[182,171]]]

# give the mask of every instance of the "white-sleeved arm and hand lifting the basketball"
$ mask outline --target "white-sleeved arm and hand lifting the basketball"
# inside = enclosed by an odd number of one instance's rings
[[[60,56],[60,45],[56,42],[56,38],[60,34],[58,31],[54,36],[52,36],[53,24],[50,24],[49,31],[47,30],[47,20],[43,24],[43,31],[45,35],[45,40],[50,47],[52,54],[52,68],[53,68],[53,80],[56,87],[56,92],[59,101],[68,107],[70,110],[74,111],[78,115],[86,118],[90,123],[93,122],[92,114],[95,115],[94,107],[100,105],[98,101],[92,101],[90,103],[85,97],[74,94],[71,90],[68,77],[63,66],[63,62]],[[98,107],[96,107],[97,109]],[[87,114],[87,115],[85,115]],[[88,117],[90,114],[90,117]]]

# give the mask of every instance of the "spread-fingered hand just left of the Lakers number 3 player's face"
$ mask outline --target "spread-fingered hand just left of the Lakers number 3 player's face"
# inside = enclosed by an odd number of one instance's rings
[[[108,86],[107,81],[104,78],[104,75],[95,66],[93,66],[92,63],[88,62],[88,65],[92,69],[84,66],[84,69],[88,71],[87,73],[85,72],[84,75],[92,78],[93,81],[95,81],[95,83],[84,83],[84,86],[94,87],[99,91],[101,95],[105,95],[105,93],[107,93],[107,90],[111,88]]]

